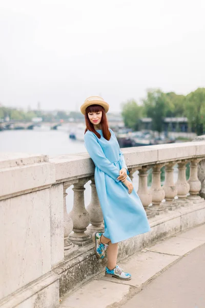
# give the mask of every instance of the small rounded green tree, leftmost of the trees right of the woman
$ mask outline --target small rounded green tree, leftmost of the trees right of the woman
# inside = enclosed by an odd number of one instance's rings
[[[126,103],[122,103],[122,119],[125,126],[138,130],[139,119],[142,117],[143,107],[139,106],[134,100],[128,100]]]

